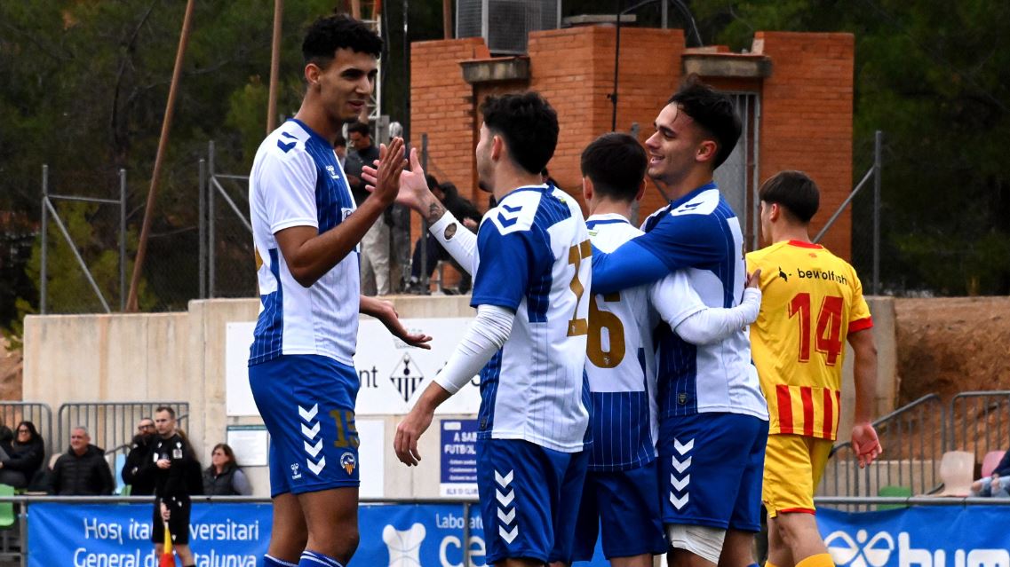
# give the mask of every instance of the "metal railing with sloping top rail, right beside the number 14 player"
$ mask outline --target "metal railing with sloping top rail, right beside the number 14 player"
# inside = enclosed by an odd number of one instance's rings
[[[924,395],[874,422],[884,454],[860,469],[851,443],[836,445],[818,493],[822,496],[877,496],[884,486],[907,486],[913,494],[939,484],[946,421],[940,398]],[[845,434],[847,432],[839,432]]]

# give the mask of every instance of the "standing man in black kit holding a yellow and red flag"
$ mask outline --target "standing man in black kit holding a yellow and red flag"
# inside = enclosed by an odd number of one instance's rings
[[[150,442],[141,474],[155,478],[154,530],[150,541],[156,551],[165,541],[165,525],[172,534],[172,545],[184,567],[195,565],[189,548],[190,495],[203,493],[200,461],[189,441],[176,428],[176,412],[168,406],[155,411],[158,435]]]

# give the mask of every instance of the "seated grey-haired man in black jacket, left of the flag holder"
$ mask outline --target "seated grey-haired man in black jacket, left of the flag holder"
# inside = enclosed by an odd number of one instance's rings
[[[75,427],[70,434],[70,449],[57,459],[53,467],[50,494],[60,496],[108,495],[116,487],[112,470],[105,461],[105,451],[91,444],[84,427]]]

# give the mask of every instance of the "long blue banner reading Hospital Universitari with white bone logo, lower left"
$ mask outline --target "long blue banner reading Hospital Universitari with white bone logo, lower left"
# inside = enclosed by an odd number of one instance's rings
[[[348,567],[481,567],[486,551],[480,507],[470,508],[468,542],[465,521],[461,504],[362,505],[361,544]],[[28,567],[158,567],[150,522],[152,504],[32,503]],[[258,567],[270,529],[270,504],[197,503],[189,545],[197,567]],[[463,564],[465,546],[470,566]],[[597,547],[593,562],[576,565],[608,563]]]

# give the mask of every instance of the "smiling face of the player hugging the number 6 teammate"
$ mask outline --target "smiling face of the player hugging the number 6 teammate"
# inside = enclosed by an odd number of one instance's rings
[[[700,128],[676,104],[664,107],[654,125],[655,132],[645,140],[648,177],[666,185],[676,185],[697,164]]]

